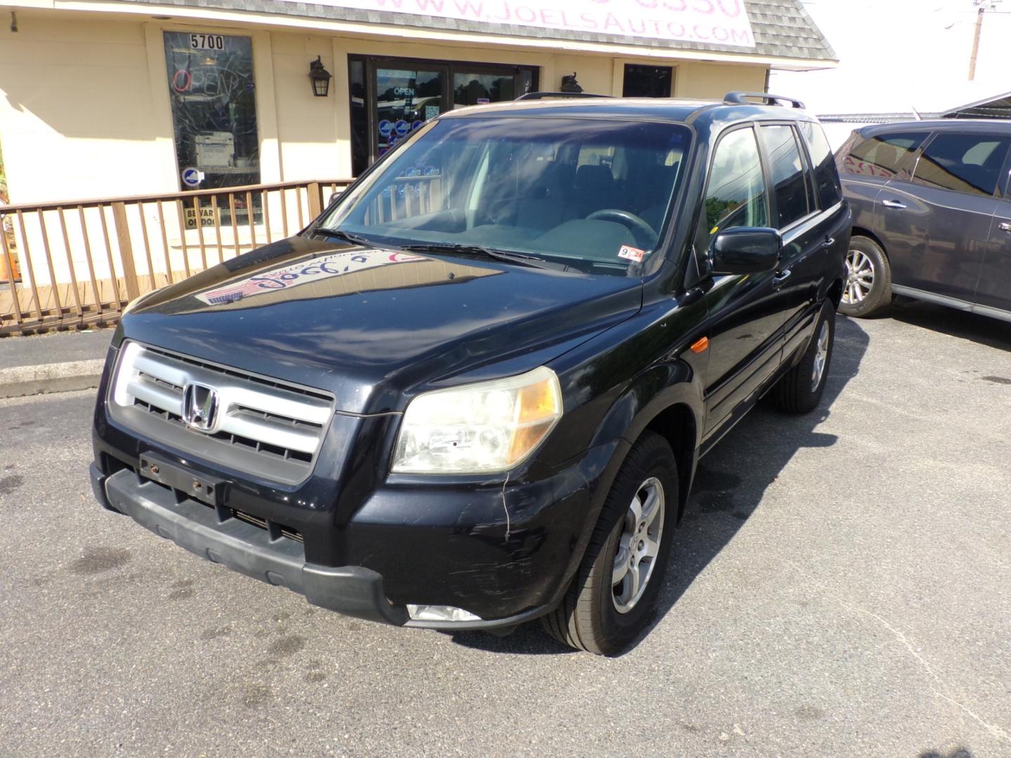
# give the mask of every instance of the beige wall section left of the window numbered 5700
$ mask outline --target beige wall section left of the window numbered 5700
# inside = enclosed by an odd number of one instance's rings
[[[172,155],[157,145],[165,125],[154,117],[143,25],[50,14],[20,26],[0,41],[0,145],[13,201],[175,189]]]

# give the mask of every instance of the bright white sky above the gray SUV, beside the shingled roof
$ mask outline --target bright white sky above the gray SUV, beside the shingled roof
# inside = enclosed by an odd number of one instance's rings
[[[975,82],[974,0],[802,1],[839,66],[773,72],[769,91],[804,100],[814,113],[930,112],[1011,92],[1011,0],[985,3]]]

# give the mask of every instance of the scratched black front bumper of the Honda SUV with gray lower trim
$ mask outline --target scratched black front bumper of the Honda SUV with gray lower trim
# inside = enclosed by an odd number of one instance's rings
[[[114,353],[95,407],[99,502],[203,558],[386,624],[511,627],[555,607],[585,551],[616,449],[627,445],[616,440],[504,482],[391,476],[377,451],[392,448],[395,418],[335,415],[313,473],[280,485],[117,424],[104,401]],[[161,462],[159,482],[139,474],[145,460]],[[216,498],[205,487],[193,499],[169,469],[213,485]],[[479,621],[411,620],[409,604],[462,608]]]

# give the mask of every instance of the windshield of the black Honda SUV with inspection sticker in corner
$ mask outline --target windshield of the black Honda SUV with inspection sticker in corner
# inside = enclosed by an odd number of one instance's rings
[[[623,275],[656,249],[690,138],[672,123],[440,120],[319,226],[389,246],[469,246]]]

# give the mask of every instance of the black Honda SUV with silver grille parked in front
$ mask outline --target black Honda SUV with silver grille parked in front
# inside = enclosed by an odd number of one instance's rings
[[[342,613],[618,652],[699,458],[766,392],[819,402],[849,228],[786,98],[444,114],[127,308],[95,495]]]

